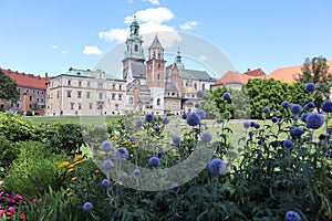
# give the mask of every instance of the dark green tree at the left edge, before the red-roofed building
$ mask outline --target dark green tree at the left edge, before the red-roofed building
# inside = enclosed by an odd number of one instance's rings
[[[0,98],[17,102],[20,93],[17,90],[17,82],[0,70]]]

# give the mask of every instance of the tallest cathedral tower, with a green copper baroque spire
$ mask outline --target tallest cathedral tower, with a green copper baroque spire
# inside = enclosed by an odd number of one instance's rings
[[[131,24],[131,34],[126,40],[126,51],[124,53],[123,63],[123,78],[127,80],[127,83],[133,81],[133,77],[143,76],[145,73],[145,57],[144,51],[142,48],[142,36],[139,35],[139,25],[136,21],[136,15],[134,15],[134,20]],[[136,69],[134,69],[136,67]],[[136,73],[137,72],[137,73]]]

